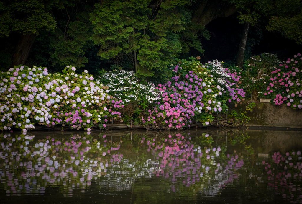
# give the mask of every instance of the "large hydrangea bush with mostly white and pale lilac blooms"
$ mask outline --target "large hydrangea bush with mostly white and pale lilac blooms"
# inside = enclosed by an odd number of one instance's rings
[[[35,124],[70,125],[91,130],[110,114],[120,113],[112,105],[108,87],[94,80],[85,70],[66,66],[63,73],[48,73],[46,68],[14,66],[0,75],[0,129],[27,129]],[[105,127],[105,124],[104,124]]]

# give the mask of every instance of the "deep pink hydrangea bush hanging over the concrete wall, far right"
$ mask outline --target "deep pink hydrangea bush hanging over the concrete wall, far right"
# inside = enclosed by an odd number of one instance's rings
[[[270,83],[267,86],[266,96],[271,96],[275,105],[283,103],[291,108],[302,108],[302,57],[298,53],[289,58],[286,63],[280,64],[271,72]]]

